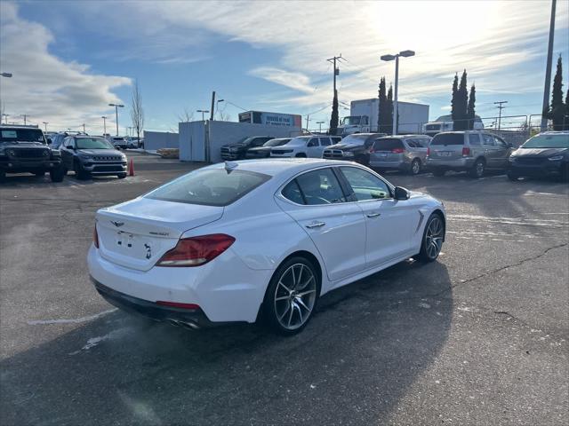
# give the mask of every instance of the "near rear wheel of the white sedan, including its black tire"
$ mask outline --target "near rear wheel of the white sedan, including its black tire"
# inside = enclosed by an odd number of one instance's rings
[[[320,295],[317,269],[308,259],[294,256],[276,268],[263,300],[263,321],[280,335],[296,335],[316,311]]]

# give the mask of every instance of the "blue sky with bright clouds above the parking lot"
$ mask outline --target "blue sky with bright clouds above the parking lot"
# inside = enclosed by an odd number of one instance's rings
[[[557,2],[554,56],[569,84],[569,2]],[[417,51],[400,66],[400,100],[448,112],[455,72],[477,85],[477,113],[539,114],[549,1],[521,2],[2,2],[0,101],[9,121],[50,129],[114,126],[109,102],[122,102],[121,133],[132,125],[138,80],[146,128],[176,130],[178,116],[209,109],[236,120],[245,109],[311,115],[328,122],[332,67],[342,54],[342,102],[377,96],[393,63],[379,56]],[[555,68],[555,67],[554,67]],[[341,110],[341,115],[348,111]],[[195,118],[201,114],[194,113]]]

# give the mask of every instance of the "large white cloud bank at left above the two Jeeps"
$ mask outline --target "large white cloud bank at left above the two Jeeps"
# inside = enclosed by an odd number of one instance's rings
[[[108,113],[109,102],[121,102],[112,92],[128,85],[122,76],[97,75],[90,67],[66,62],[49,51],[52,33],[43,25],[23,20],[12,3],[0,3],[0,63],[12,78],[0,79],[0,96],[9,121],[21,121],[27,114],[33,123],[49,122],[51,129],[100,131],[101,114]],[[114,124],[109,114],[108,126]],[[43,127],[43,125],[42,125]]]

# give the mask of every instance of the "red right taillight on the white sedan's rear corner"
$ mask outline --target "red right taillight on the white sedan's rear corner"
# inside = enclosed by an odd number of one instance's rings
[[[212,233],[184,238],[167,251],[156,266],[200,266],[220,256],[233,244],[235,238],[224,233]]]

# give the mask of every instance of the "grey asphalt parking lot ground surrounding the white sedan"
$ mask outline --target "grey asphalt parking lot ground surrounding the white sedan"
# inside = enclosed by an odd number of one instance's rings
[[[300,335],[192,332],[116,311],[85,255],[96,209],[197,164],[0,187],[0,423],[566,424],[569,186],[408,177],[445,201],[443,254],[321,299]]]

